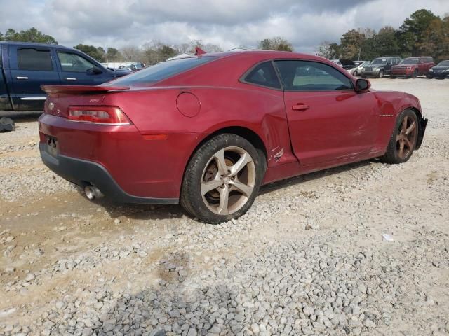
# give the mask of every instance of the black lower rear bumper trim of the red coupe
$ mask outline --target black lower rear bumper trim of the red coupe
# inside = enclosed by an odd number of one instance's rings
[[[177,204],[177,198],[140,197],[126,193],[112,178],[105,167],[97,162],[70,158],[65,155],[53,156],[46,150],[46,144],[39,144],[43,163],[62,178],[84,187],[96,186],[108,199],[121,203]]]

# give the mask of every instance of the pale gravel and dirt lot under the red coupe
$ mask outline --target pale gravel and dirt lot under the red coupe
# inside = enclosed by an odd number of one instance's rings
[[[266,186],[223,225],[89,202],[35,120],[0,134],[0,335],[448,335],[449,80],[372,83],[429,118],[406,164]]]

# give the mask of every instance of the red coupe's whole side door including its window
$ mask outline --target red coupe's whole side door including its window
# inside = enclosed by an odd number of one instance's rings
[[[377,102],[342,71],[320,62],[276,60],[293,151],[302,166],[365,158],[377,130]]]

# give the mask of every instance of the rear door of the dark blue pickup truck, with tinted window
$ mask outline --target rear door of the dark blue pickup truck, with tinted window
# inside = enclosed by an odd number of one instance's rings
[[[42,111],[46,93],[42,84],[60,84],[51,47],[10,45],[9,64],[14,108]]]

